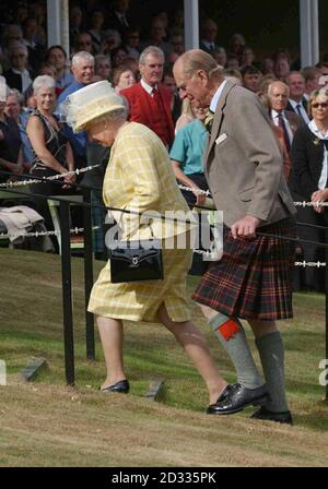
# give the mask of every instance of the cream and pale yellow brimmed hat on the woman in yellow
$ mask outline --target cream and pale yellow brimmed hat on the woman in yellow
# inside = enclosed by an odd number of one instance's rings
[[[60,105],[60,112],[74,132],[83,131],[94,119],[118,109],[126,109],[124,99],[107,81],[78,90]]]

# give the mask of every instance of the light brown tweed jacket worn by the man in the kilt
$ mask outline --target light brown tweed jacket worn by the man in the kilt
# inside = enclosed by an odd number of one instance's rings
[[[232,82],[216,106],[204,174],[229,227],[246,214],[262,226],[296,212],[269,117],[255,94]]]

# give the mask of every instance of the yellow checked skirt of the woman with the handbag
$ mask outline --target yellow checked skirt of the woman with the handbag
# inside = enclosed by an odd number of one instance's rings
[[[164,303],[173,321],[188,321],[186,277],[191,262],[190,249],[163,249],[163,281],[112,284],[108,261],[93,286],[87,310],[105,318],[159,322],[157,310]]]

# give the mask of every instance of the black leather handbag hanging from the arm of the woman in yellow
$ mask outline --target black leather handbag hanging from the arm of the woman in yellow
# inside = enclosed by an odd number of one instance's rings
[[[162,281],[163,254],[159,239],[119,241],[109,248],[110,282]]]

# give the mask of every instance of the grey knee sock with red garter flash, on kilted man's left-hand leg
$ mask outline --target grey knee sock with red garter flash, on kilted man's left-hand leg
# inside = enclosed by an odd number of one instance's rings
[[[246,389],[263,385],[242,323],[219,312],[210,320],[210,324],[236,369],[238,383]]]

